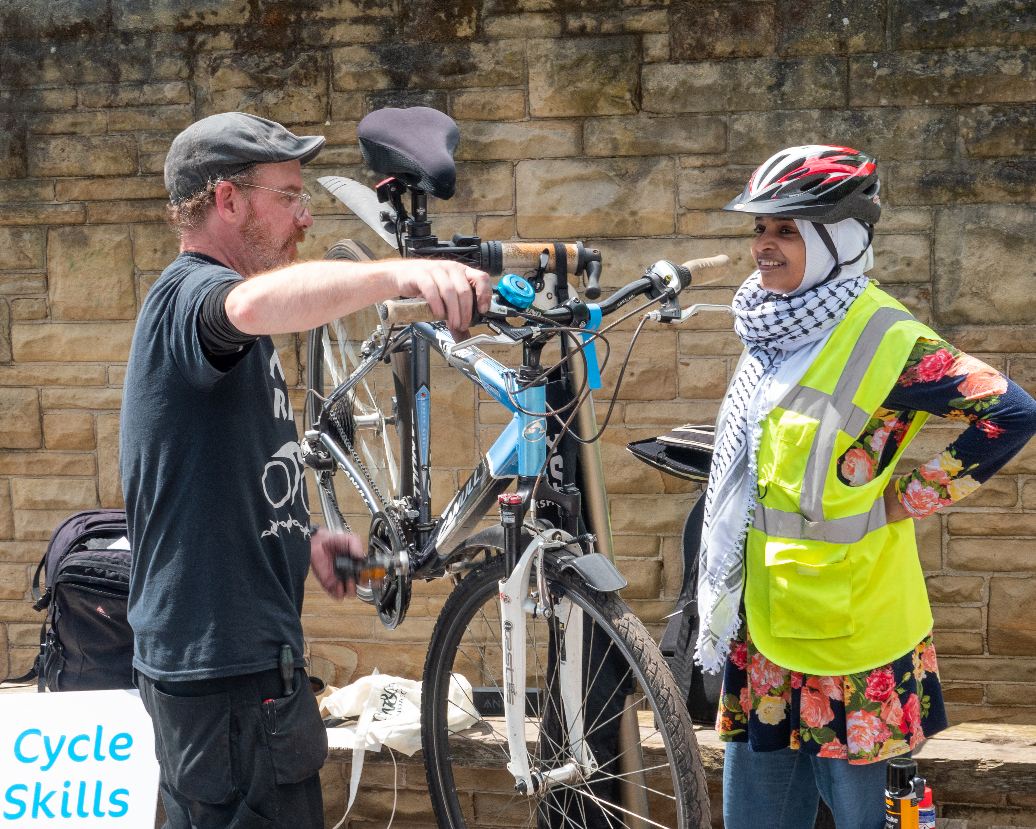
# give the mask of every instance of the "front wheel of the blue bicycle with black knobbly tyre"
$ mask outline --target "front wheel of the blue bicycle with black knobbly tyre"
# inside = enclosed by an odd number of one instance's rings
[[[708,827],[697,741],[655,642],[614,595],[597,592],[573,571],[557,571],[549,560],[545,574],[554,616],[526,616],[529,762],[543,772],[574,760],[559,702],[565,656],[556,643],[564,641],[559,631],[571,614],[581,612],[588,623],[579,710],[597,770],[531,796],[515,791],[507,770],[501,691],[507,683],[498,582],[507,573],[505,558],[496,556],[450,595],[425,662],[422,748],[438,825]]]

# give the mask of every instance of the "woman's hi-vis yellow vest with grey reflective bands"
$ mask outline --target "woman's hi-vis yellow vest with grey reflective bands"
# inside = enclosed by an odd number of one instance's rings
[[[908,653],[931,629],[914,522],[887,524],[883,493],[927,415],[862,486],[838,458],[866,427],[928,327],[873,285],[762,423],[759,503],[748,533],[745,608],[752,641],[777,664],[853,674]]]

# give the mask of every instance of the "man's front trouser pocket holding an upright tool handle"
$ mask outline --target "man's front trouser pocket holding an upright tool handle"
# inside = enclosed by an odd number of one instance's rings
[[[290,697],[275,700],[272,706],[263,705],[262,718],[278,786],[301,782],[323,768],[327,730],[304,672],[295,672]]]

